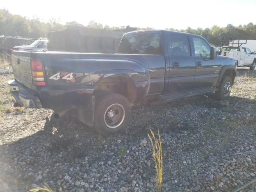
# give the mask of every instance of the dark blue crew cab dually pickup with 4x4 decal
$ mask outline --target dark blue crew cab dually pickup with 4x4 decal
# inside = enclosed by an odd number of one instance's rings
[[[167,30],[124,34],[117,54],[13,51],[16,101],[50,108],[59,118],[76,111],[102,135],[123,130],[135,101],[172,100],[215,92],[226,99],[237,80],[238,62],[217,56],[201,36]]]

